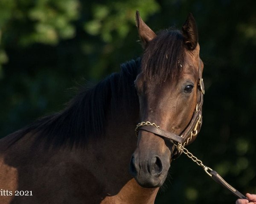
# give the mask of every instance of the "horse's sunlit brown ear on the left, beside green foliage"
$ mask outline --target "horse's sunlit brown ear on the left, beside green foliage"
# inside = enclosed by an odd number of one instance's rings
[[[136,22],[137,22],[137,28],[140,35],[140,39],[143,42],[143,48],[145,48],[149,41],[151,41],[154,37],[157,35],[152,31],[141,19],[140,12],[136,12]]]

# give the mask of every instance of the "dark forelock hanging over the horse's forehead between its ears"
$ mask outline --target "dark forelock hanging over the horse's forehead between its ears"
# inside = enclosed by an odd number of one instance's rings
[[[163,30],[145,48],[141,73],[144,80],[160,83],[176,79],[182,70],[185,46],[179,30]]]

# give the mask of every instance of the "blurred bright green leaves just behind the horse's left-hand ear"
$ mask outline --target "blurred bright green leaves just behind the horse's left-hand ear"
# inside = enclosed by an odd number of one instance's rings
[[[84,24],[84,29],[91,35],[100,35],[104,42],[113,41],[113,32],[119,38],[125,38],[134,23],[134,13],[140,10],[144,18],[159,9],[154,0],[113,1],[110,5],[93,4],[93,20]]]

